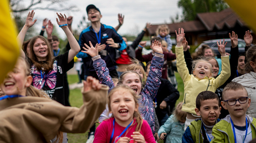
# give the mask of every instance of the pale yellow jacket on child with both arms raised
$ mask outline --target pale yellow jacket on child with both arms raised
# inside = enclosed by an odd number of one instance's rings
[[[183,46],[175,47],[175,53],[177,60],[177,70],[184,83],[184,99],[182,111],[196,114],[195,99],[197,95],[202,91],[215,92],[216,89],[225,83],[230,77],[229,56],[221,57],[222,71],[216,79],[213,77],[208,78],[205,76],[203,79],[199,80],[193,74],[189,74],[189,70],[184,58]]]

